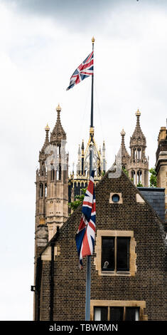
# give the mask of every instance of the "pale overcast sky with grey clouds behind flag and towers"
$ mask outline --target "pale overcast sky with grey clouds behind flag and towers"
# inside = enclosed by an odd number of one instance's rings
[[[0,0],[0,319],[33,318],[35,180],[45,125],[55,108],[67,133],[70,170],[89,136],[91,78],[65,91],[95,36],[95,140],[107,168],[141,110],[149,167],[166,125],[167,1]]]

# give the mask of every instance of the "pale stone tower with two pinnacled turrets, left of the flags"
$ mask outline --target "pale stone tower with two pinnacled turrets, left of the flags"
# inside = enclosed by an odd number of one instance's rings
[[[68,219],[68,155],[62,148],[66,133],[60,122],[60,105],[52,133],[45,128],[45,143],[36,171],[36,246],[45,247],[57,227]]]

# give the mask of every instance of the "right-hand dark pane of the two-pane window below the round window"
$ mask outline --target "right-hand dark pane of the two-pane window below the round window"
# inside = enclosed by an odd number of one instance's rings
[[[117,237],[117,271],[129,271],[129,238]]]

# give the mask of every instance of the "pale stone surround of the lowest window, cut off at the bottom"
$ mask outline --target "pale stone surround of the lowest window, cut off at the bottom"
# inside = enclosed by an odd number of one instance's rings
[[[144,315],[144,308],[146,308],[146,301],[139,300],[90,300],[90,321],[94,320],[94,307],[108,307],[108,321],[109,321],[109,307],[139,307],[139,321],[147,321],[148,316]]]

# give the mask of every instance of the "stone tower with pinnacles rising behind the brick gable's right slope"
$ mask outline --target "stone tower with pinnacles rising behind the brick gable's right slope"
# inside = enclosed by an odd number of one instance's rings
[[[136,128],[130,138],[131,154],[126,150],[124,143],[125,132],[122,135],[122,168],[129,172],[129,178],[134,180],[134,185],[139,183],[144,187],[149,186],[149,158],[146,158],[146,138],[140,126],[140,111],[136,111]]]

